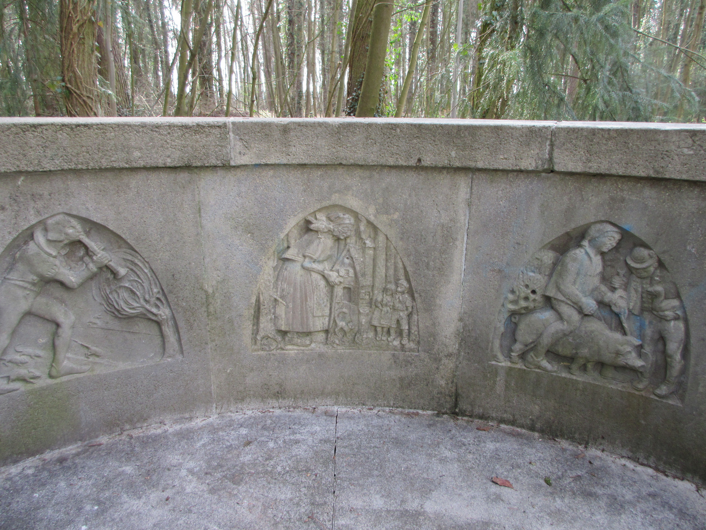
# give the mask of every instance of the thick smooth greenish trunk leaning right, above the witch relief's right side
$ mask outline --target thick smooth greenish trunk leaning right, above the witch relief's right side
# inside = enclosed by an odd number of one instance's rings
[[[365,64],[365,77],[360,89],[360,99],[356,117],[372,117],[380,102],[380,87],[385,73],[385,55],[388,52],[388,37],[393,14],[393,4],[378,1],[373,10],[373,25],[370,33],[370,47]]]

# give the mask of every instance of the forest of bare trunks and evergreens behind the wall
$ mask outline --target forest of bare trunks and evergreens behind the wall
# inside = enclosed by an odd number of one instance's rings
[[[4,116],[706,120],[706,0],[0,0]]]

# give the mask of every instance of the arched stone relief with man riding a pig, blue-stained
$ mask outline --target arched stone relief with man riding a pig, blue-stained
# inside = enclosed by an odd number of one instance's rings
[[[492,349],[498,363],[668,399],[679,392],[686,337],[678,288],[654,250],[599,222],[530,257],[505,294]]]

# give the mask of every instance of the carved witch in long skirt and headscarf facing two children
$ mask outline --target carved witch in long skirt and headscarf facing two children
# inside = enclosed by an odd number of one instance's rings
[[[275,328],[285,331],[285,343],[293,346],[310,346],[312,331],[329,328],[331,285],[342,281],[332,269],[342,252],[339,242],[354,228],[346,213],[307,220],[311,230],[282,255],[277,275]]]

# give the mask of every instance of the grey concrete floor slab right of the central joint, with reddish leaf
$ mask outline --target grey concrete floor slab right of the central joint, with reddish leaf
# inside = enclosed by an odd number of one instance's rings
[[[688,483],[633,461],[426,413],[338,411],[335,471],[337,529],[696,529],[705,517]],[[695,510],[676,507],[688,499]]]

